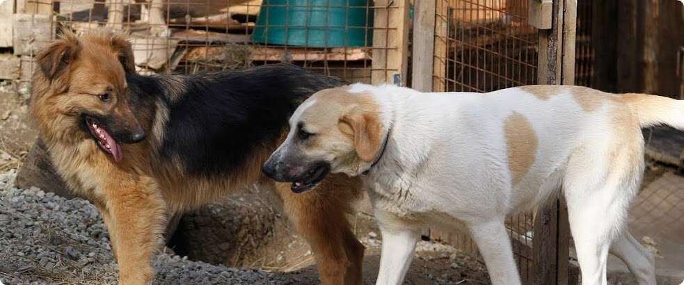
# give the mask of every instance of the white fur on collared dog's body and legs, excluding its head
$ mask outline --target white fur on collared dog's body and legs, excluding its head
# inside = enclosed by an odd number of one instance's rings
[[[614,107],[629,103],[607,100],[584,111],[564,88],[548,99],[519,88],[483,95],[355,84],[349,92],[368,92],[376,99],[388,133],[381,160],[363,176],[383,234],[377,284],[401,284],[421,229],[457,224],[470,229],[493,284],[520,284],[504,220],[561,188],[582,284],[607,283],[606,259],[614,240],[611,251],[628,263],[639,284],[655,284],[653,257],[622,231],[644,168],[640,133],[624,138],[614,131]],[[671,102],[676,106],[662,117],[639,109],[649,104],[626,109],[647,113],[640,115],[641,124],[684,126],[684,104]],[[525,116],[538,139],[534,163],[516,185],[503,127],[514,112]],[[628,128],[638,131],[639,125]],[[621,152],[624,140],[633,140],[636,149]]]

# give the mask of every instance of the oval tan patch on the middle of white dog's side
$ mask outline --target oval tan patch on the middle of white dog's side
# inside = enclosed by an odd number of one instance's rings
[[[513,184],[518,184],[530,170],[536,158],[539,140],[532,124],[525,116],[514,112],[504,122],[504,136],[508,147],[508,167]]]

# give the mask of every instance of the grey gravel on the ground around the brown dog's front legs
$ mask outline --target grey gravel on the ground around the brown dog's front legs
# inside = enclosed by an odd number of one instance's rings
[[[0,280],[4,284],[115,284],[117,265],[95,206],[0,174]],[[297,272],[227,268],[161,253],[155,284],[312,284]]]

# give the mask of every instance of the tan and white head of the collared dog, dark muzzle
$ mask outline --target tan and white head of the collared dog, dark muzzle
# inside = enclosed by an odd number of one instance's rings
[[[297,108],[287,138],[262,168],[268,177],[293,182],[292,191],[301,193],[330,172],[356,176],[371,165],[384,138],[379,105],[349,90],[321,90]]]

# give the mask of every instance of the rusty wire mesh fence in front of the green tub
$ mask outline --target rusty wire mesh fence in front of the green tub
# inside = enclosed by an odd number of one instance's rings
[[[380,83],[406,73],[405,60],[396,59],[408,52],[408,25],[401,24],[408,0],[27,1],[26,13],[48,15],[53,37],[64,29],[129,33],[143,73],[276,62],[352,82]]]

